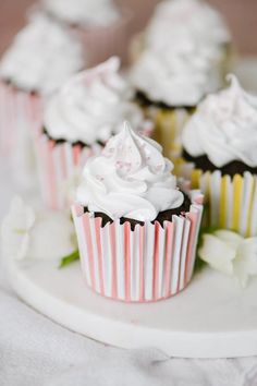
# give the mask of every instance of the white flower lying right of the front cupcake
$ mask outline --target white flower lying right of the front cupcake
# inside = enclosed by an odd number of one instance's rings
[[[249,276],[257,275],[257,238],[244,239],[229,231],[204,234],[199,257],[212,268],[235,276],[246,287]]]

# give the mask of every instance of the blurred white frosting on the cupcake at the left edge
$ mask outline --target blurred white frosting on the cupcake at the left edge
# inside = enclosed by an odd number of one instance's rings
[[[81,44],[42,15],[15,37],[0,62],[0,76],[19,88],[49,95],[84,67]]]

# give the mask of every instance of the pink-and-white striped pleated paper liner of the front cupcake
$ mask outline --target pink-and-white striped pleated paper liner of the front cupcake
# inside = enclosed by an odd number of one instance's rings
[[[188,213],[158,222],[137,225],[120,220],[101,227],[101,218],[72,206],[82,272],[99,294],[125,302],[154,302],[182,291],[191,281],[203,196]]]

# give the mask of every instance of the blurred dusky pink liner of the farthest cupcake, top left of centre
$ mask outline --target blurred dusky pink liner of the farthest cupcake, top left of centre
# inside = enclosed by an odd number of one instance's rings
[[[85,47],[89,65],[97,65],[113,55],[119,56],[123,62],[127,61],[126,47],[130,39],[131,21],[131,12],[123,10],[121,19],[111,26],[75,28]]]

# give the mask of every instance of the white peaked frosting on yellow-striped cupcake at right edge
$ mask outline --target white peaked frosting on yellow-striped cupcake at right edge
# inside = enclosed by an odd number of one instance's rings
[[[257,167],[257,96],[229,79],[229,88],[199,105],[184,129],[183,146],[193,157],[207,155],[217,168],[234,160]]]

